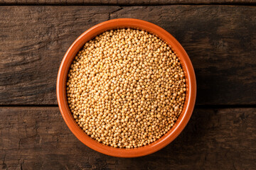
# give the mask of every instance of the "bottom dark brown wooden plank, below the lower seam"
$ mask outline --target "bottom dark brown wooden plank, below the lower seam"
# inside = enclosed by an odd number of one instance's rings
[[[255,169],[256,108],[198,108],[174,142],[146,157],[109,157],[68,130],[58,108],[0,108],[2,169]]]

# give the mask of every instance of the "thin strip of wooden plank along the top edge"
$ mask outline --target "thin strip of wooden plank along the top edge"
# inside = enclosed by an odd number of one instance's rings
[[[169,5],[169,4],[255,4],[255,0],[1,0],[0,5]]]

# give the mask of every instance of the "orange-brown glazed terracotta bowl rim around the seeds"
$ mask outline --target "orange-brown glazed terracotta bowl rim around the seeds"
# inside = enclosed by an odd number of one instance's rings
[[[153,142],[144,147],[121,149],[102,145],[100,142],[93,140],[91,137],[87,136],[84,131],[82,131],[78,124],[75,123],[73,115],[70,113],[70,108],[68,107],[68,101],[66,98],[66,80],[73,58],[75,55],[77,55],[82,46],[85,45],[85,42],[91,40],[96,35],[99,35],[106,30],[112,30],[116,28],[136,28],[139,30],[146,30],[154,35],[158,35],[159,38],[171,45],[172,50],[176,52],[176,55],[181,62],[183,71],[185,72],[186,76],[186,101],[183,106],[183,111],[174,124],[174,127],[171,128],[171,130],[169,130],[169,132],[163,135],[159,140],[156,140],[156,142]],[[60,64],[60,69],[58,71],[57,99],[60,112],[63,116],[63,119],[65,120],[65,123],[68,125],[68,128],[70,128],[71,132],[73,132],[73,134],[78,137],[78,140],[87,145],[87,147],[95,149],[97,152],[108,154],[114,157],[141,157],[146,154],[156,152],[166,145],[169,145],[169,143],[173,141],[185,128],[188,120],[191,118],[193,107],[196,101],[196,76],[191,64],[191,60],[186,54],[186,51],[166,30],[146,21],[132,18],[120,18],[105,21],[103,23],[97,24],[96,26],[93,26],[89,30],[85,31],[85,33],[82,33],[82,35],[80,35],[80,37],[75,40],[75,42],[73,42],[68,51],[65,53],[65,56],[63,57],[63,60]]]

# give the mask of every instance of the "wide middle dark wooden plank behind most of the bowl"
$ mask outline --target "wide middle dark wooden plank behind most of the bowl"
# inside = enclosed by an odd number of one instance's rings
[[[55,105],[65,51],[81,33],[113,18],[155,23],[191,57],[198,105],[255,105],[256,7],[1,6],[0,104]]]

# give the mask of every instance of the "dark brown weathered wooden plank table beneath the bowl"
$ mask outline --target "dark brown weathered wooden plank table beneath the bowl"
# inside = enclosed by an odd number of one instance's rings
[[[0,0],[0,169],[256,169],[255,4]],[[86,147],[56,101],[65,51],[85,30],[113,18],[166,29],[196,71],[191,120],[174,142],[146,157],[109,157]]]

